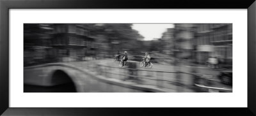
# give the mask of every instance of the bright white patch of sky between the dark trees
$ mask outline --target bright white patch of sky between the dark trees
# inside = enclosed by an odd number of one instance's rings
[[[144,40],[153,40],[161,38],[167,28],[173,28],[173,24],[133,24],[132,28],[139,31],[144,36]]]

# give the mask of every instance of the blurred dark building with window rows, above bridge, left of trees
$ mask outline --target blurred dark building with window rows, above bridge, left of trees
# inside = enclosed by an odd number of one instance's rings
[[[58,61],[82,61],[85,56],[95,55],[94,39],[83,24],[54,24],[51,40],[52,55]]]

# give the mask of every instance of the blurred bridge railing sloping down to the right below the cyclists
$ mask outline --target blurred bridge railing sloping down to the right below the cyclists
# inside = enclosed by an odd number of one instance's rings
[[[116,78],[124,81],[128,80],[143,85],[154,85],[163,89],[175,89],[177,92],[215,92],[205,91],[203,86],[195,85],[195,83],[199,85],[212,85],[212,83],[215,82],[214,80],[211,80],[211,78],[204,78],[193,72],[154,71],[147,69],[120,68],[102,64],[95,65],[95,69],[99,75],[104,75],[106,78]],[[211,88],[211,90],[214,89],[220,90],[220,88],[217,87]]]

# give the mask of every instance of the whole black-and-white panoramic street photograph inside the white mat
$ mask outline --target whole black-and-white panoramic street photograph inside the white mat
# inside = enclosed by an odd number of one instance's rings
[[[24,92],[232,92],[232,24],[24,24]]]

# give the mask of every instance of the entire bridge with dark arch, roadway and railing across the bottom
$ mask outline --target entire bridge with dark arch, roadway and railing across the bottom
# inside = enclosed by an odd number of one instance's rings
[[[186,72],[104,66],[99,61],[61,62],[25,67],[24,92],[232,92],[212,87],[220,83],[205,78],[196,80],[206,86],[194,85],[195,79]]]

